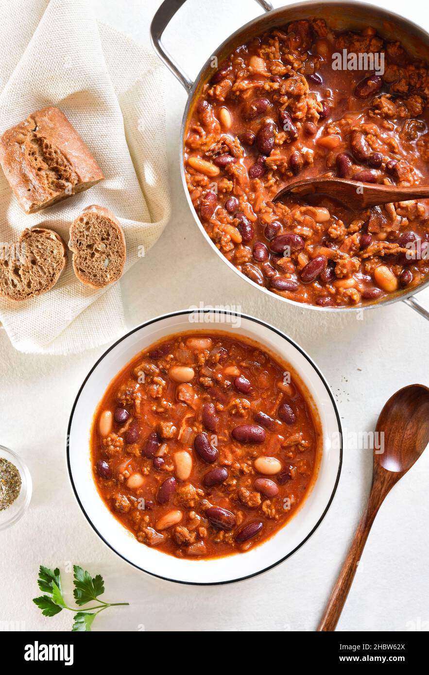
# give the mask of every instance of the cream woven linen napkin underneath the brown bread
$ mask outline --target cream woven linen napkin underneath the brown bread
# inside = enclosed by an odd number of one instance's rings
[[[0,242],[14,242],[25,227],[40,224],[67,244],[72,220],[99,204],[124,229],[125,271],[143,265],[170,216],[165,69],[153,53],[97,22],[87,0],[0,0],[0,12],[0,133],[55,105],[105,175],[90,190],[26,215],[0,170]],[[0,298],[0,321],[22,352],[94,348],[125,329],[120,282],[103,290],[84,286],[69,252],[52,290],[24,302]]]

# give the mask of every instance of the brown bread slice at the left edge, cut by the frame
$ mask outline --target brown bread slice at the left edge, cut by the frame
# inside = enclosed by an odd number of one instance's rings
[[[67,260],[66,244],[45,227],[24,229],[18,242],[1,244],[0,296],[28,300],[55,286]]]

